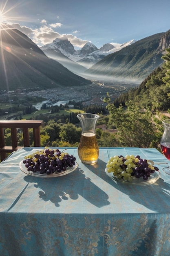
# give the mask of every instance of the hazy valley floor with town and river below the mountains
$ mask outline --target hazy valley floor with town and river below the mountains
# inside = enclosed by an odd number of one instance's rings
[[[110,100],[114,101],[122,93],[127,92],[135,86],[138,86],[138,84],[124,81],[92,81],[92,84],[88,85],[64,86],[63,88],[46,90],[41,88],[27,88],[27,90],[1,91],[0,105],[2,110],[0,119],[14,119],[17,116],[19,117],[23,115],[23,110],[30,106],[30,104],[36,110],[40,110],[44,103],[50,107],[55,105],[60,106],[60,104],[64,105],[69,101],[82,102],[83,106],[93,104],[103,105],[103,99],[107,97],[107,93],[110,95]],[[15,110],[15,108],[18,108],[18,110]]]

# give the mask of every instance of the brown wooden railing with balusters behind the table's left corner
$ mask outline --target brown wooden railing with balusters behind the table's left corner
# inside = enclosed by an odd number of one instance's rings
[[[35,147],[40,147],[40,126],[42,120],[0,120],[0,159],[3,161],[7,153],[16,151],[18,148],[17,128],[22,128],[24,147],[29,147],[29,128],[33,128],[33,141]],[[4,128],[11,128],[12,146],[6,146],[4,140]]]

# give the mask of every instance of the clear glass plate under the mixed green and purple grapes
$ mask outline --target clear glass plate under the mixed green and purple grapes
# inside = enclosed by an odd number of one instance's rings
[[[160,171],[155,171],[154,173],[150,174],[150,177],[148,178],[148,180],[144,180],[142,177],[140,177],[139,179],[133,177],[132,182],[129,182],[129,181],[126,181],[124,179],[118,179],[116,176],[113,175],[113,172],[108,173],[107,167],[105,169],[105,172],[108,175],[108,177],[110,177],[112,180],[115,180],[116,182],[128,184],[128,185],[148,185],[148,184],[153,184],[160,177]]]

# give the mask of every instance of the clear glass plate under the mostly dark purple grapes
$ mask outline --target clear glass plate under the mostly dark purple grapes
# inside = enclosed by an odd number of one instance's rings
[[[25,167],[25,164],[23,163],[23,161],[20,162],[20,169],[21,171],[23,171],[24,173],[26,174],[29,174],[31,176],[34,176],[34,177],[39,177],[39,178],[55,178],[55,177],[60,177],[60,176],[63,176],[63,175],[66,175],[68,173],[72,173],[73,171],[75,171],[75,169],[77,168],[78,164],[77,162],[75,162],[75,165],[73,165],[73,167],[68,167],[66,168],[66,171],[63,171],[61,173],[52,173],[52,174],[40,174],[40,172],[36,172],[36,173],[33,173],[32,171],[27,171],[27,168]]]

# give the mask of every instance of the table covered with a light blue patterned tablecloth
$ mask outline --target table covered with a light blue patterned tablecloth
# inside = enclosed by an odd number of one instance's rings
[[[147,186],[115,182],[105,173],[114,155],[168,162],[155,148],[100,148],[95,165],[39,178],[19,167],[22,148],[0,164],[1,256],[169,256],[170,176]]]

